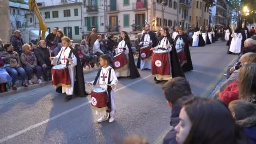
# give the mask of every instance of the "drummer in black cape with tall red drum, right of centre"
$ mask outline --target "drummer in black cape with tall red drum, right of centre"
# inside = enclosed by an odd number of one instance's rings
[[[160,83],[162,80],[171,80],[173,77],[185,77],[168,27],[162,27],[160,32],[162,37],[158,45],[151,48],[152,51],[155,50],[152,56],[152,75],[155,78],[155,83]],[[163,52],[166,51],[167,55],[158,53],[158,49]]]

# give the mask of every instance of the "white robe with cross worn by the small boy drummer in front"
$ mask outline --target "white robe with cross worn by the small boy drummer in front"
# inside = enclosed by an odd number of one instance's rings
[[[111,69],[111,75],[109,77],[109,69]],[[103,74],[104,74],[104,81],[103,81]],[[110,78],[110,79],[109,79]],[[116,89],[116,85],[117,85],[117,76],[115,75],[115,70],[108,66],[107,68],[101,67],[101,73],[100,76],[98,78],[97,84],[99,84],[99,87],[104,88],[107,91],[107,85],[102,85],[104,84],[104,82],[107,84],[108,81],[111,81],[111,86],[112,90],[111,90],[111,112],[110,112],[110,116],[114,117],[115,115],[115,93],[114,90]],[[94,81],[92,81],[91,83],[93,83]],[[105,113],[103,113],[102,115],[105,115]]]

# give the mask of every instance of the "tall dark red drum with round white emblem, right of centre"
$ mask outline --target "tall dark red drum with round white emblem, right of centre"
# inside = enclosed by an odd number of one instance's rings
[[[158,80],[171,79],[171,63],[166,50],[154,51],[152,55],[152,75]]]

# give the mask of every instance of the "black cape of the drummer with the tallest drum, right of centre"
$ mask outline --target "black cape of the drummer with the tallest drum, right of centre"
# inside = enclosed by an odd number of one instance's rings
[[[168,35],[166,37],[167,37],[170,45],[173,45],[172,50],[170,52],[172,77],[185,77],[184,72],[181,68],[181,64],[179,63],[179,59],[178,59],[178,56],[177,56],[177,51],[176,51],[176,48],[175,48],[175,45],[174,45],[174,41],[173,41],[173,39],[171,38],[170,35]],[[161,37],[160,40],[158,41],[158,43],[160,43],[163,38],[164,37]]]

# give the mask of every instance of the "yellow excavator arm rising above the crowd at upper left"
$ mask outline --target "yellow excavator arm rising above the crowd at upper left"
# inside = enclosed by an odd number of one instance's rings
[[[41,40],[44,40],[45,32],[47,31],[47,26],[46,26],[45,22],[43,21],[43,17],[40,13],[40,10],[39,10],[35,0],[29,0],[29,10],[34,11],[34,13],[37,16],[37,19],[39,21],[38,42],[40,41],[41,32],[42,32]]]

